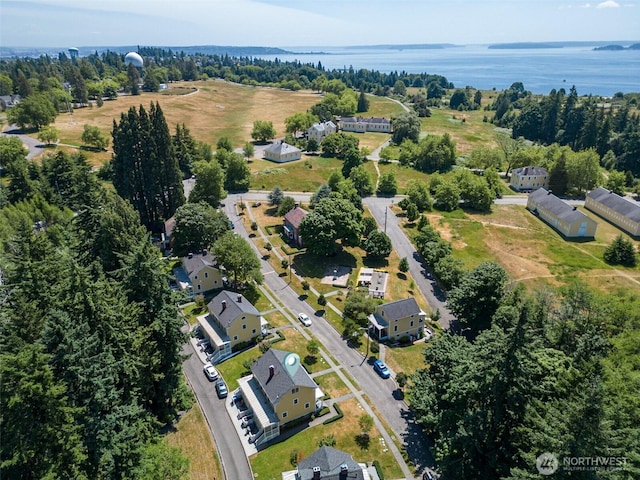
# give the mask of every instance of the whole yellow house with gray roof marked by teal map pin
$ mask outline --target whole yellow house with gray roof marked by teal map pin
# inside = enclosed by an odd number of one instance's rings
[[[251,365],[251,375],[238,380],[253,413],[256,446],[280,435],[280,427],[322,409],[324,393],[295,353],[269,349]]]

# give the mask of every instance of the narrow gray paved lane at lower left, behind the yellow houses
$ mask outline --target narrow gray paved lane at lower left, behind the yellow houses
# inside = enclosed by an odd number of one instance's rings
[[[193,351],[191,342],[185,344],[183,353],[190,354],[184,361],[182,369],[213,433],[225,477],[227,480],[253,478],[240,438],[222,403],[224,400],[218,398],[213,383],[209,382],[202,373],[202,361]]]

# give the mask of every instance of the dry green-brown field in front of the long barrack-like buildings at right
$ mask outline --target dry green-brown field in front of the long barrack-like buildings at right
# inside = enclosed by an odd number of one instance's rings
[[[607,245],[620,233],[598,221],[594,241],[567,241],[523,206],[494,205],[490,214],[432,212],[427,217],[441,236],[453,244],[453,255],[471,269],[495,260],[513,281],[530,288],[558,286],[574,279],[608,291],[624,286],[640,292],[640,270],[612,267],[602,260]],[[413,228],[407,232],[414,235]],[[636,246],[640,242],[635,241]]]

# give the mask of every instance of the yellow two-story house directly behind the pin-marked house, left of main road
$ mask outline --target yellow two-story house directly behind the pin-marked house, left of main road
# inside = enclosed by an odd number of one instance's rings
[[[200,331],[211,344],[209,361],[217,363],[234,349],[262,335],[266,324],[260,312],[241,293],[221,291],[208,304],[208,315],[198,317]]]

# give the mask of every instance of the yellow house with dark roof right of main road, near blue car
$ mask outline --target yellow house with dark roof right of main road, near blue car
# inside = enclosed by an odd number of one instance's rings
[[[381,342],[422,338],[426,320],[415,298],[405,298],[378,305],[369,315],[369,332]]]

